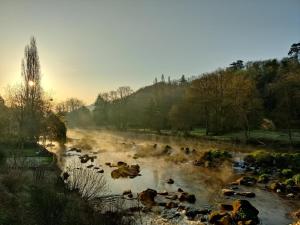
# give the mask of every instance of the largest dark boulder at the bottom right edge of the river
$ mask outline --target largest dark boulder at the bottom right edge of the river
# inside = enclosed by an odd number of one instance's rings
[[[249,201],[235,200],[232,206],[232,218],[235,221],[252,221],[251,223],[258,224],[259,211]]]

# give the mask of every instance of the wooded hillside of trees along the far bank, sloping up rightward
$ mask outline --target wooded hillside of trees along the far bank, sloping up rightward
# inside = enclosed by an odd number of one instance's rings
[[[253,129],[281,129],[292,141],[300,127],[299,53],[300,43],[281,60],[237,60],[192,79],[166,81],[162,75],[136,92],[124,86],[100,93],[92,108],[81,104],[65,115],[74,126],[185,133],[204,128],[206,135],[243,131],[246,139]]]

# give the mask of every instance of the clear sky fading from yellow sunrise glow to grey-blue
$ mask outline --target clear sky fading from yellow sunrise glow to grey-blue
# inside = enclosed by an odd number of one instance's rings
[[[300,0],[0,0],[0,94],[37,39],[56,101],[282,58],[300,41]]]

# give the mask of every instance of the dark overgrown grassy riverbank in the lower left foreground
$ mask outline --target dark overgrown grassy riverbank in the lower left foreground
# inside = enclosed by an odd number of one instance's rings
[[[0,148],[1,225],[128,225],[121,211],[96,212],[61,177],[56,155],[42,146]],[[125,219],[124,219],[125,218]]]

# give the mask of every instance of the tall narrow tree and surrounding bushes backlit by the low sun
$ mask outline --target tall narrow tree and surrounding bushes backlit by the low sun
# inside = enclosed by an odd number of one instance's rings
[[[0,97],[0,142],[37,143],[41,137],[65,141],[66,128],[52,111],[52,98],[41,86],[36,40],[31,38],[22,59],[22,82],[10,87],[6,101]]]

